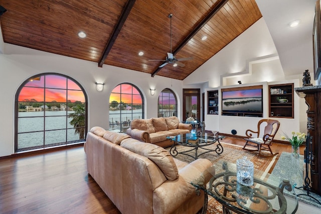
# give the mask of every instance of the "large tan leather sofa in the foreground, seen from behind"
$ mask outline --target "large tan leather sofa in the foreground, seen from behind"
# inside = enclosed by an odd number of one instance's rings
[[[88,132],[84,149],[88,173],[123,214],[194,214],[203,206],[204,194],[197,196],[190,182],[212,165],[207,159],[188,164],[162,147],[101,127]]]

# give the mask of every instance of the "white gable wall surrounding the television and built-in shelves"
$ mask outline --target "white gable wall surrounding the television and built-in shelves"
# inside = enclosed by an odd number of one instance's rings
[[[268,85],[294,83],[294,87],[300,87],[302,74],[293,77],[284,76],[273,40],[264,19],[261,18],[188,76],[183,81],[183,87],[185,87],[185,84],[193,82],[207,82],[209,88],[204,89],[206,95],[205,106],[207,106],[208,90],[219,89],[219,99],[221,99],[220,89],[239,87],[240,85],[237,83],[239,80],[242,82],[241,86],[263,85],[265,97],[263,101],[263,118],[268,118]],[[219,109],[221,109],[220,105],[221,103],[219,104]],[[279,129],[280,134],[276,139],[280,139],[281,131],[286,133],[291,131],[306,132],[304,105],[304,99],[294,94],[294,119],[278,118],[281,126]],[[231,130],[235,129],[237,135],[244,136],[247,129],[256,129],[259,119],[261,118],[222,116],[220,114],[208,115],[207,107],[205,107],[207,130],[218,130],[221,133],[231,134]]]

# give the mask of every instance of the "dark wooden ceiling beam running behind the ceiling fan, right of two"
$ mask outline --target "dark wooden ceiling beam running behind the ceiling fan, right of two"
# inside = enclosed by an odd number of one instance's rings
[[[228,2],[229,0],[222,0],[213,10],[200,22],[198,26],[183,40],[183,42],[173,51],[173,55],[177,54],[196,34],[199,32],[205,24],[210,21],[213,16],[220,11],[220,9]],[[163,63],[162,63],[163,64]],[[164,68],[164,67],[162,67]],[[157,67],[152,73],[151,77],[154,77],[158,71],[160,71],[162,68]]]

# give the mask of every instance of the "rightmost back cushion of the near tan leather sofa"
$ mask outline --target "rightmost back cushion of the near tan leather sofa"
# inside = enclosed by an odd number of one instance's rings
[[[163,171],[167,179],[175,180],[179,177],[174,158],[164,148],[132,139],[123,140],[120,146],[153,161]]]

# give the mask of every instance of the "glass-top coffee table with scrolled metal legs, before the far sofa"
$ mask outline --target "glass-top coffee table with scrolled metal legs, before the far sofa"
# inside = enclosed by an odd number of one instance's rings
[[[216,135],[210,135],[205,133],[204,135],[196,135],[194,133],[180,134],[177,136],[168,137],[173,141],[173,145],[170,149],[170,154],[175,157],[178,154],[188,155],[197,159],[200,155],[215,151],[217,154],[221,154],[223,152],[223,146],[220,143],[219,139],[222,139],[222,136],[219,136],[218,133]],[[209,148],[209,145],[217,144],[216,147]],[[177,146],[185,146],[190,149],[179,151]],[[200,150],[199,152],[199,149]],[[195,151],[195,155],[193,154]]]

